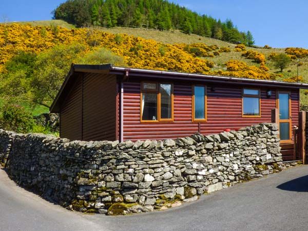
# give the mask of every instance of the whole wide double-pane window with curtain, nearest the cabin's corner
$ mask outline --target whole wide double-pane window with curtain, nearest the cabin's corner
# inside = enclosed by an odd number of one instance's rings
[[[169,83],[142,83],[141,122],[169,122],[173,116],[173,86]]]

